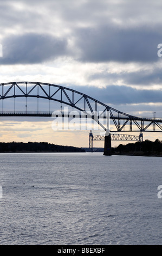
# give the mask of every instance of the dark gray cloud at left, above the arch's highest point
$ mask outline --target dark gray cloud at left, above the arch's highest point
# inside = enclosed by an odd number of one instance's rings
[[[34,64],[68,54],[67,41],[49,34],[12,35],[2,42],[0,64]]]

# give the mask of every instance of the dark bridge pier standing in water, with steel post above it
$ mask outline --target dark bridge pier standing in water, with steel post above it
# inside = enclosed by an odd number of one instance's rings
[[[103,155],[111,156],[112,155],[112,143],[111,143],[111,133],[109,130],[109,110],[106,111],[106,121],[107,121],[107,128],[105,133],[105,145],[104,145],[104,152]]]

